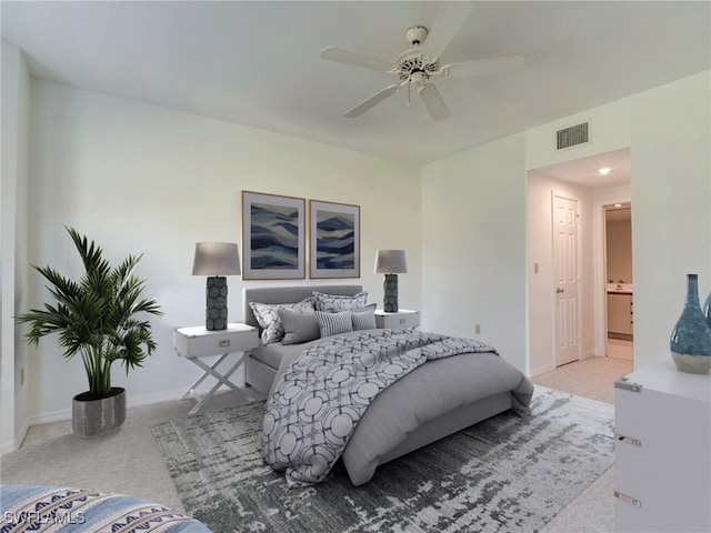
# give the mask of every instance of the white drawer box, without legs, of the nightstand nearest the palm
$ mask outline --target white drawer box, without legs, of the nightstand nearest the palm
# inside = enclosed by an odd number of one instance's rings
[[[227,330],[208,331],[204,326],[176,330],[176,351],[183,358],[246,352],[259,345],[257,329],[247,324],[228,324]]]

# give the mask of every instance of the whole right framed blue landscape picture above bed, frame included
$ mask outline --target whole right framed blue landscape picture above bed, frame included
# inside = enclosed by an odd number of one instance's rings
[[[310,276],[360,278],[360,205],[309,200]]]

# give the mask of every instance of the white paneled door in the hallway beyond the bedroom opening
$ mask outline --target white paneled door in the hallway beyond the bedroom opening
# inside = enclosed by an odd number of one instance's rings
[[[580,359],[580,200],[553,192],[555,366]]]

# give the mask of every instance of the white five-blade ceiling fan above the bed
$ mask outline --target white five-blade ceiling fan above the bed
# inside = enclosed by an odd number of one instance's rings
[[[398,92],[404,86],[417,87],[418,93],[433,121],[450,117],[449,108],[430,78],[465,78],[482,74],[514,72],[525,66],[525,56],[505,56],[440,66],[440,56],[454,38],[473,9],[472,2],[444,2],[430,31],[422,26],[408,28],[404,37],[412,48],[402,52],[394,63],[361,56],[340,48],[328,47],[321,51],[321,59],[351,64],[364,69],[395,74],[398,83],[385,87],[344,113],[354,119],[370,108]]]

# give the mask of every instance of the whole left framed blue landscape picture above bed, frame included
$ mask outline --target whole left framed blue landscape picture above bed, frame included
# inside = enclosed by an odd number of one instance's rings
[[[242,279],[304,279],[306,233],[306,199],[242,191]]]

